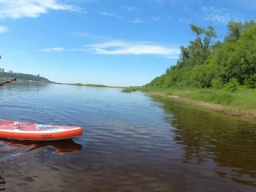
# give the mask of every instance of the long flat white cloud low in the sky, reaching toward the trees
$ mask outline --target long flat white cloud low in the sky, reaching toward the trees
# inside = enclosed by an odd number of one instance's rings
[[[178,48],[159,46],[149,42],[102,42],[86,46],[86,50],[90,50],[95,54],[154,54],[168,58],[178,58],[180,54]]]

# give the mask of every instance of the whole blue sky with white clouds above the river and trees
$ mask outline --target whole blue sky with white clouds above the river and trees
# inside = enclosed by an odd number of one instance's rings
[[[190,23],[255,18],[256,0],[0,0],[0,68],[54,82],[142,86],[176,64]]]

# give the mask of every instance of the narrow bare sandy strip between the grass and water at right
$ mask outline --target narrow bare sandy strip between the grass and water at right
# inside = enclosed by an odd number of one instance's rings
[[[236,118],[242,118],[247,120],[256,120],[256,109],[255,110],[243,110],[239,109],[238,107],[231,107],[231,106],[222,106],[220,104],[210,103],[210,102],[202,102],[202,101],[195,101],[190,98],[182,98],[178,95],[167,95],[163,93],[157,93],[157,92],[149,92],[153,95],[159,95],[166,98],[171,98],[178,100],[180,102],[187,102],[198,106],[203,106],[205,108],[208,108],[210,110],[214,110],[215,112],[218,112],[220,114],[229,115]]]

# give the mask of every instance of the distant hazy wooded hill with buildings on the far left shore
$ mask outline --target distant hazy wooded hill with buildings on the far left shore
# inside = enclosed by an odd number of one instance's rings
[[[10,78],[17,78],[18,82],[50,82],[49,79],[38,77],[37,75],[33,74],[20,74],[20,73],[0,73],[0,79],[6,80]]]

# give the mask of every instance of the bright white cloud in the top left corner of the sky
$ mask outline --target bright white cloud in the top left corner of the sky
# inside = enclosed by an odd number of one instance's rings
[[[78,11],[74,6],[58,3],[57,0],[1,0],[0,18],[36,18],[48,10]]]

